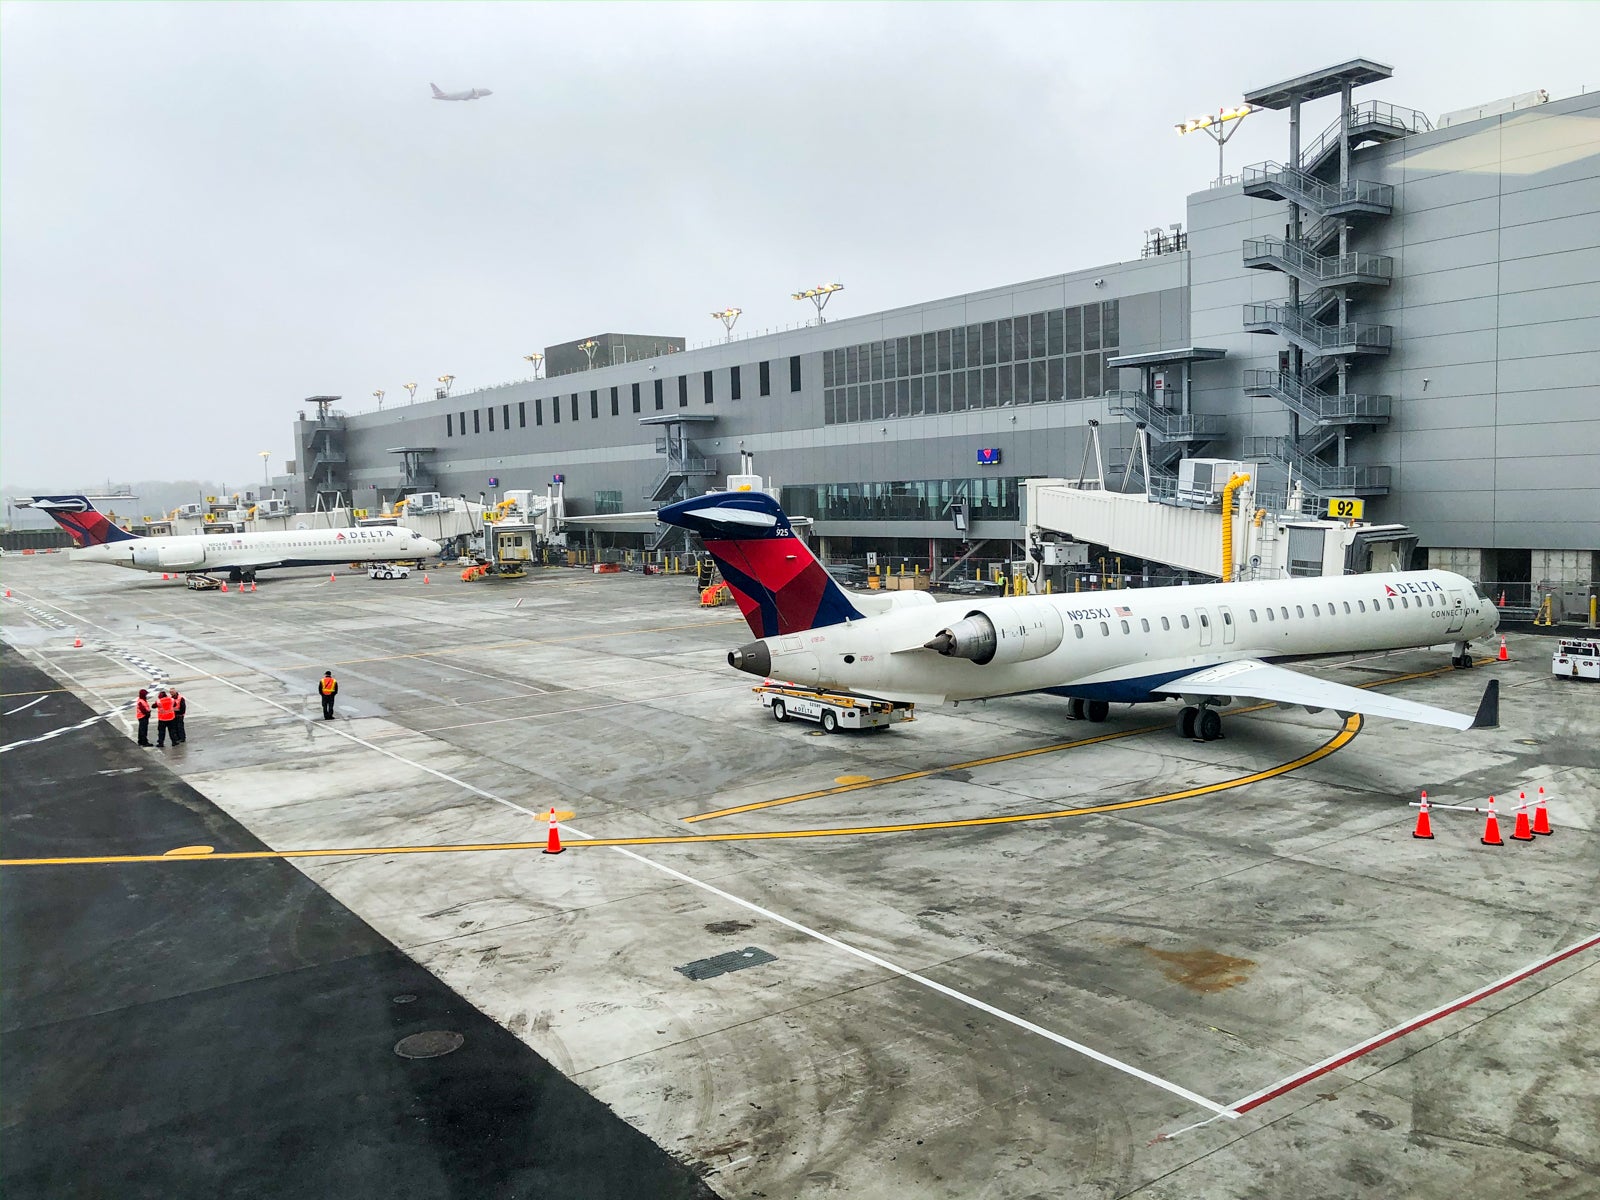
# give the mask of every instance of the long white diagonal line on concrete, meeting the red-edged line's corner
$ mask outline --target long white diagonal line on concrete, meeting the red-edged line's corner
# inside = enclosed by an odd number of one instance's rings
[[[67,610],[62,608],[61,611],[66,613]],[[67,613],[67,614],[72,616],[72,613]],[[93,624],[93,622],[88,622],[88,624]],[[99,627],[104,629],[104,626],[99,626]],[[245,696],[250,696],[251,699],[259,701],[261,704],[269,704],[274,709],[278,709],[280,712],[286,712],[291,717],[299,717],[307,725],[310,725],[309,718],[306,718],[302,714],[298,714],[298,712],[291,710],[288,706],[278,704],[277,701],[267,699],[266,696],[258,696],[256,693],[250,691],[248,688],[240,686],[238,683],[234,683],[232,680],[222,678],[221,675],[216,675],[216,674],[213,674],[210,670],[197,667],[197,666],[194,666],[190,662],[186,662],[184,659],[178,658],[176,654],[168,654],[163,650],[157,650],[154,653],[160,654],[165,659],[170,659],[170,661],[176,662],[178,666],[184,667],[184,670],[189,670],[189,672],[194,672],[194,674],[198,674],[198,675],[205,675],[208,678],[216,680],[218,683],[224,683],[229,688],[234,688],[234,691],[243,693]],[[608,707],[608,706],[600,706],[600,707]],[[416,762],[413,758],[406,758],[403,754],[395,754],[394,750],[387,750],[382,746],[374,746],[373,742],[366,741],[365,738],[357,738],[355,734],[346,733],[344,730],[331,730],[330,733],[338,733],[341,738],[347,738],[349,741],[355,742],[357,746],[363,746],[363,747],[366,747],[370,750],[376,750],[378,754],[381,754],[381,755],[384,755],[387,758],[394,758],[395,762],[406,763],[408,766],[414,766],[416,770],[424,771],[427,774],[432,774],[437,779],[445,779],[446,782],[453,782],[458,787],[462,787],[464,790],[472,792],[474,795],[483,797],[485,800],[493,800],[498,805],[506,805],[507,808],[515,808],[518,813],[526,813],[528,816],[539,816],[539,813],[533,811],[531,808],[523,808],[522,805],[518,805],[518,803],[515,803],[512,800],[506,800],[504,797],[498,797],[493,792],[486,792],[482,787],[475,787],[474,784],[469,784],[464,779],[458,779],[456,776],[448,774],[445,771],[438,771],[438,770],[435,770],[432,766],[424,766],[422,763],[419,763],[419,762]],[[581,838],[586,838],[586,840],[589,840],[592,837],[592,835],[584,834],[584,832],[581,832],[578,829],[573,829],[568,824],[562,824],[562,829],[565,829],[568,834],[571,834],[574,837],[581,837]],[[986,1014],[995,1018],[997,1021],[1005,1021],[1010,1026],[1014,1026],[1014,1027],[1018,1027],[1018,1029],[1021,1029],[1024,1032],[1029,1032],[1029,1034],[1034,1034],[1037,1037],[1042,1037],[1046,1042],[1051,1042],[1051,1043],[1054,1043],[1054,1045],[1058,1045],[1058,1046],[1061,1046],[1064,1050],[1070,1050],[1075,1054],[1082,1054],[1083,1058],[1093,1059],[1094,1062],[1099,1062],[1101,1066],[1110,1067],[1112,1070],[1120,1070],[1123,1075],[1131,1075],[1133,1078],[1141,1080],[1144,1083],[1149,1083],[1150,1086],[1160,1088],[1162,1091],[1168,1091],[1173,1096],[1178,1096],[1178,1098],[1187,1101],[1189,1104],[1194,1104],[1198,1109],[1205,1109],[1206,1112],[1214,1114],[1216,1117],[1227,1117],[1229,1120],[1234,1120],[1234,1118],[1238,1117],[1238,1112],[1235,1109],[1222,1107],[1216,1101],[1210,1101],[1205,1096],[1200,1096],[1198,1093],[1189,1091],[1189,1088],[1184,1088],[1184,1086],[1181,1086],[1178,1083],[1173,1083],[1171,1080],[1165,1080],[1160,1075],[1152,1075],[1150,1072],[1141,1070],[1139,1067],[1133,1066],[1131,1062],[1123,1062],[1122,1059],[1112,1058],[1110,1054],[1104,1054],[1104,1053],[1094,1050],[1093,1046],[1083,1045],[1082,1042],[1074,1042],[1069,1037],[1062,1037],[1061,1034],[1056,1034],[1051,1029],[1045,1029],[1043,1026],[1035,1024],[1035,1022],[1032,1022],[1032,1021],[1029,1021],[1026,1018],[1021,1018],[1016,1013],[1008,1013],[1003,1008],[995,1008],[994,1005],[990,1005],[990,1003],[987,1003],[984,1000],[979,1000],[978,997],[970,995],[968,992],[960,992],[960,990],[957,990],[954,987],[949,987],[947,984],[941,984],[936,979],[930,979],[928,976],[918,974],[917,971],[912,971],[912,970],[909,970],[906,966],[901,966],[899,963],[893,963],[888,958],[883,958],[882,955],[872,954],[870,950],[862,950],[858,946],[851,946],[850,942],[843,942],[838,938],[832,938],[832,936],[822,933],[821,930],[813,930],[811,926],[802,925],[797,920],[790,920],[789,917],[782,917],[782,915],[773,912],[771,909],[763,909],[760,904],[755,904],[752,901],[747,901],[747,899],[742,899],[739,896],[734,896],[731,891],[723,891],[722,888],[718,888],[718,886],[715,886],[712,883],[706,883],[704,880],[698,880],[693,875],[685,875],[682,870],[675,870],[674,867],[669,867],[664,862],[656,862],[654,859],[648,859],[643,854],[637,854],[632,850],[627,850],[626,846],[608,846],[608,850],[611,850],[613,853],[622,854],[624,858],[630,858],[635,862],[642,862],[643,866],[646,866],[646,867],[650,867],[653,870],[659,870],[664,875],[670,875],[672,878],[680,880],[683,883],[688,883],[690,886],[699,888],[701,891],[710,893],[712,896],[717,896],[718,899],[725,899],[730,904],[736,904],[741,909],[754,912],[758,917],[765,917],[766,920],[776,922],[778,925],[782,925],[784,928],[794,930],[795,933],[800,933],[800,934],[805,934],[806,938],[819,941],[824,946],[832,946],[835,950],[843,950],[845,954],[853,955],[856,958],[861,958],[862,962],[872,963],[874,966],[878,966],[878,968],[888,971],[890,974],[896,974],[901,979],[907,979],[909,982],[918,984],[920,987],[926,987],[931,992],[938,992],[939,995],[942,995],[942,997],[946,997],[949,1000],[955,1000],[957,1003],[966,1005],[968,1008],[973,1008],[973,1010],[976,1010],[979,1013],[986,1013]]]

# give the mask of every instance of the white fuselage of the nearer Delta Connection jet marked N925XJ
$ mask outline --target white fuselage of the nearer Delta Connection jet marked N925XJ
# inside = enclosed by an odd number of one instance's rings
[[[1405,571],[923,603],[763,638],[752,648],[765,645],[770,669],[760,653],[738,666],[885,698],[1056,691],[1138,702],[1234,659],[1466,643],[1498,624],[1469,579]]]

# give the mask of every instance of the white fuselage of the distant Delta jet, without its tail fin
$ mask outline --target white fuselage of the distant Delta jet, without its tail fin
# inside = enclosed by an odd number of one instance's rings
[[[392,558],[427,558],[438,542],[398,525],[355,530],[274,530],[270,533],[192,533],[174,538],[83,546],[72,562],[109,563],[136,571],[229,571],[267,566],[323,566]]]

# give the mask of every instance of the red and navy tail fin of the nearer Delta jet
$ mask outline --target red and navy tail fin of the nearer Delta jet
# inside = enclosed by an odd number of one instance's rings
[[[656,517],[701,536],[755,637],[862,618],[765,491],[696,496]]]

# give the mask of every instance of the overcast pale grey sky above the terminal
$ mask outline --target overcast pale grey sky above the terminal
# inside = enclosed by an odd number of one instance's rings
[[[1176,120],[1355,56],[1430,115],[1566,96],[1595,45],[1595,3],[6,2],[0,477],[248,485],[306,395],[1136,258],[1216,170]]]

